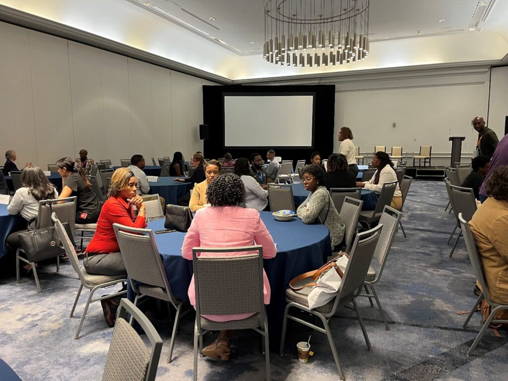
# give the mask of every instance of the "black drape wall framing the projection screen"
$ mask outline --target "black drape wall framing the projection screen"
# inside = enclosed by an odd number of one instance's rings
[[[333,151],[335,120],[335,85],[284,85],[284,86],[203,86],[203,123],[209,126],[209,138],[204,141],[206,158],[220,158],[225,152],[231,152],[234,158],[249,158],[253,152],[259,152],[266,160],[267,147],[224,148],[224,108],[223,93],[302,93],[314,92],[314,146],[312,148],[274,148],[277,156],[283,160],[303,160],[312,151],[321,153],[327,158]],[[267,142],[270,137],[267,137]]]

